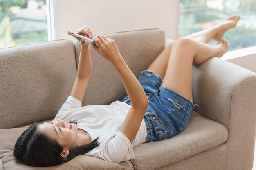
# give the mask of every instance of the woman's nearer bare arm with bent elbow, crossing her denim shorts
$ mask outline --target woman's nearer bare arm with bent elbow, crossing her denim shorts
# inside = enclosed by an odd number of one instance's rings
[[[120,131],[124,133],[132,143],[139,131],[141,121],[144,117],[146,108],[148,107],[148,98],[144,89],[141,87],[141,84],[119,53],[115,41],[100,35],[94,37],[94,41],[97,46],[93,45],[93,48],[103,57],[108,59],[108,61],[115,67],[130,98],[132,107],[126,116]]]

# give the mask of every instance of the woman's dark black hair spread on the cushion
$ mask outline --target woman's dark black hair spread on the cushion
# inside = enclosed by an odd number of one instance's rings
[[[60,154],[63,147],[55,139],[50,139],[45,133],[37,130],[37,123],[32,124],[18,138],[13,155],[22,163],[30,166],[54,166],[66,163],[77,155],[84,155],[99,146],[98,138],[91,143],[70,149],[66,158]]]

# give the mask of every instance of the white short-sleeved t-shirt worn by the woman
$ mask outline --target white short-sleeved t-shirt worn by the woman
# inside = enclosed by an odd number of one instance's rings
[[[99,137],[99,146],[85,155],[119,163],[134,159],[132,148],[144,143],[147,138],[144,120],[142,120],[132,144],[119,131],[130,108],[130,105],[120,101],[112,102],[110,105],[88,105],[82,107],[82,103],[79,100],[69,96],[54,120],[65,120],[65,122],[76,120],[77,127],[87,131],[92,140]]]

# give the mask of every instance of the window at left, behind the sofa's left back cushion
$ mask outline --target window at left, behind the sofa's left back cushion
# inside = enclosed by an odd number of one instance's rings
[[[0,0],[0,48],[47,40],[46,0]]]

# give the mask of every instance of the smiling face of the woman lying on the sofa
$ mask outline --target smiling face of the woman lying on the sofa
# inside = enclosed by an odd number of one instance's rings
[[[78,143],[78,129],[74,123],[66,123],[64,120],[53,120],[39,124],[38,130],[45,133],[48,137],[56,139],[63,146],[63,150],[72,149]]]

